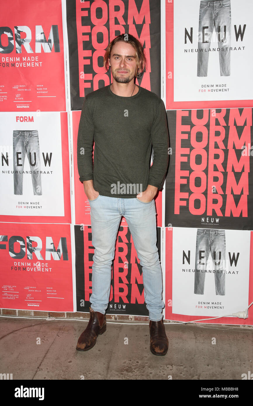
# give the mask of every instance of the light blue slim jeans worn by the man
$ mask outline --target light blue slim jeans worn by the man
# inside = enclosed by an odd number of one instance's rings
[[[156,206],[154,199],[143,203],[137,198],[121,199],[99,195],[91,206],[92,266],[91,308],[105,314],[109,303],[112,260],[121,216],[124,216],[143,271],[144,299],[149,320],[162,320],[162,270],[156,246]]]

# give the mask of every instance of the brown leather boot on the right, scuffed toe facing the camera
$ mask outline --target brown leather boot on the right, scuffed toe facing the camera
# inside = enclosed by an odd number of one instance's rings
[[[163,321],[149,321],[150,351],[154,355],[165,355],[168,351],[169,341],[165,332]]]

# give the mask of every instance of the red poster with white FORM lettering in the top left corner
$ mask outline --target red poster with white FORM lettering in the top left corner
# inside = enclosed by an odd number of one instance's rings
[[[61,0],[2,2],[1,111],[65,111],[64,60]]]

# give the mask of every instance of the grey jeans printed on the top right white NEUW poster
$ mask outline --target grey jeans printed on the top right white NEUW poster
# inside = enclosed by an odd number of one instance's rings
[[[208,75],[209,49],[214,27],[218,38],[221,76],[230,76],[230,0],[203,0],[200,2],[197,76],[205,77]]]

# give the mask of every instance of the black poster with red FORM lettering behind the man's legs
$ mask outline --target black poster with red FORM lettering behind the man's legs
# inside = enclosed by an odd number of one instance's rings
[[[157,229],[160,256],[160,228]],[[76,305],[77,311],[89,312],[92,293],[94,247],[90,226],[75,226]],[[144,302],[142,267],[128,227],[119,227],[107,314],[148,315]]]

